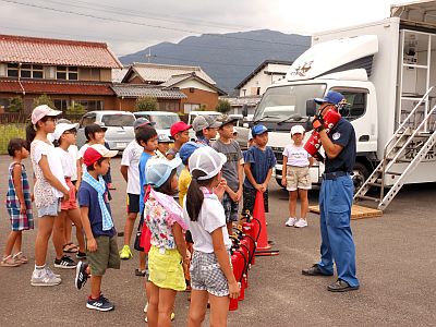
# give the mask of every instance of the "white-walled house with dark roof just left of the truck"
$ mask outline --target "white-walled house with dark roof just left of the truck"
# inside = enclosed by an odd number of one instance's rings
[[[283,78],[292,61],[265,60],[249,76],[238,84],[240,97],[262,96],[266,87]]]

